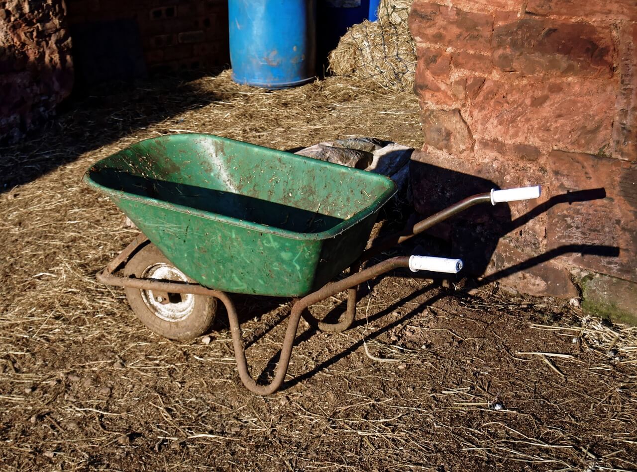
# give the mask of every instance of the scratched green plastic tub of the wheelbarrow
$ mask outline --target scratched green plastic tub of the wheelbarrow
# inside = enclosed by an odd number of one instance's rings
[[[396,191],[364,170],[203,134],[133,144],[85,182],[192,279],[273,296],[306,295],[354,262]]]

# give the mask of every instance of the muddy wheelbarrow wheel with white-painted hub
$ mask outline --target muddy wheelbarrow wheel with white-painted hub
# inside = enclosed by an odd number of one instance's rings
[[[124,267],[124,275],[138,279],[194,282],[149,243]],[[158,335],[188,340],[210,330],[217,313],[217,300],[192,293],[153,293],[152,290],[125,288],[132,310],[143,324]]]

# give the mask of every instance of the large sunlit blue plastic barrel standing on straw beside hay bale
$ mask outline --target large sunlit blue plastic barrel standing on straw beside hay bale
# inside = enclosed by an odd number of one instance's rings
[[[288,88],[315,78],[315,0],[229,0],[233,80]]]

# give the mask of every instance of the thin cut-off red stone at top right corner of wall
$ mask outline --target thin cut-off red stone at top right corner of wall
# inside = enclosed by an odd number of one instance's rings
[[[526,11],[534,15],[578,17],[587,21],[637,21],[637,3],[634,0],[529,0]]]

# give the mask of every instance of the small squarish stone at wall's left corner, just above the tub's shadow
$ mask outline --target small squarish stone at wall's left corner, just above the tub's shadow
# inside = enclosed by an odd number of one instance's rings
[[[454,154],[465,153],[473,146],[473,137],[459,109],[424,109],[420,121],[429,146]]]

